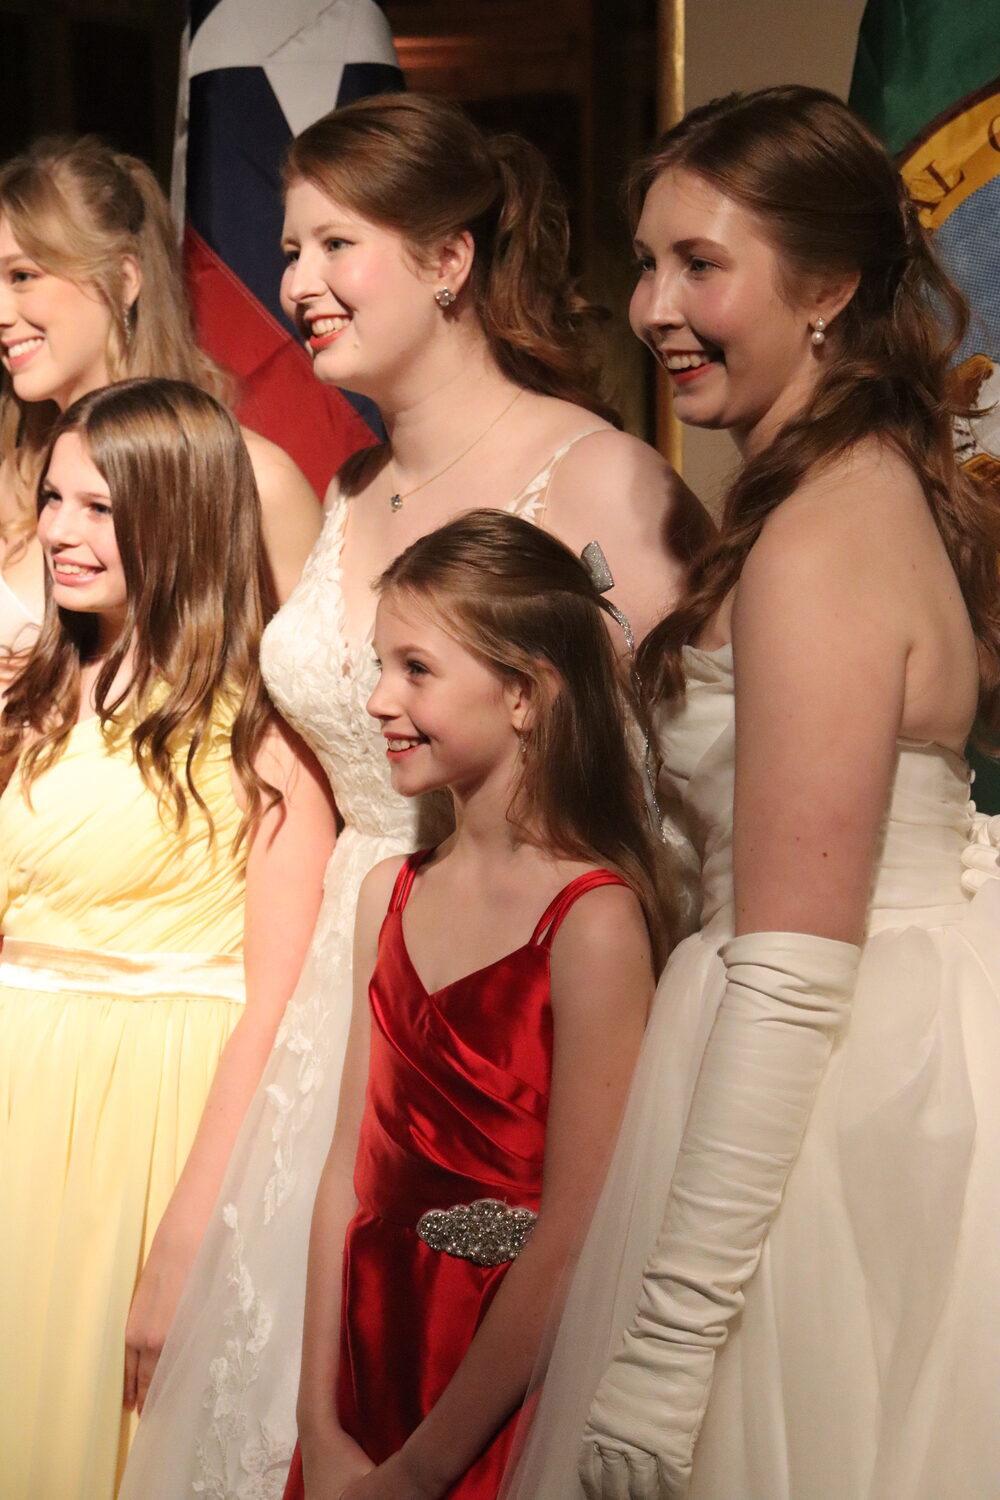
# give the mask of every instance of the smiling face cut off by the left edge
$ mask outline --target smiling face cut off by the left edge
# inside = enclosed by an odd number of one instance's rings
[[[18,399],[64,411],[106,386],[109,334],[99,292],[46,272],[0,220],[0,350]]]

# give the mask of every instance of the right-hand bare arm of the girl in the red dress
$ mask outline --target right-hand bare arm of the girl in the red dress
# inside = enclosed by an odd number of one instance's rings
[[[589,892],[552,950],[555,1053],[538,1221],[441,1400],[345,1500],[442,1496],[523,1400],[559,1278],[600,1191],[652,990],[634,896]]]

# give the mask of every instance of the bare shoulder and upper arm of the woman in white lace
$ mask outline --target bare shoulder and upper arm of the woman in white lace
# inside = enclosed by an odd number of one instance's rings
[[[681,477],[625,432],[574,444],[549,486],[546,525],[574,552],[600,542],[615,578],[609,598],[636,640],[673,606],[687,562],[712,522]]]

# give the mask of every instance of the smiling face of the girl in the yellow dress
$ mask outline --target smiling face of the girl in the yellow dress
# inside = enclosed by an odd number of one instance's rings
[[[42,482],[37,537],[55,603],[97,615],[102,639],[112,640],[124,624],[124,570],[108,482],[76,432],[64,432],[52,448]]]

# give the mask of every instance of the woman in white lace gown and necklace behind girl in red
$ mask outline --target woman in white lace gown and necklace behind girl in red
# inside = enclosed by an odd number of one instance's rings
[[[367,870],[441,837],[390,786],[364,711],[376,682],[370,579],[471,506],[598,537],[618,603],[649,624],[700,510],[603,416],[541,159],[418,96],[334,111],[292,147],[283,297],[318,378],[370,396],[390,442],[349,462],[264,674],[325,766],[343,819],[325,902],[150,1390],[126,1500],[282,1494],[295,1440],[309,1220],[330,1146]]]

